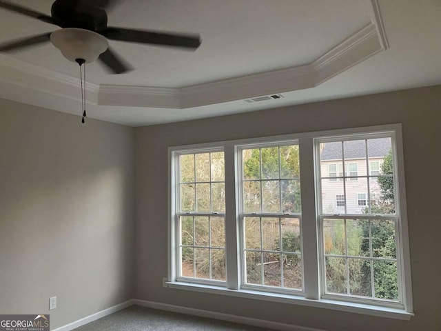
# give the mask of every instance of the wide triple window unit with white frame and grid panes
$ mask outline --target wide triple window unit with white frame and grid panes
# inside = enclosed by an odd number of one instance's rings
[[[393,125],[170,148],[170,287],[410,318],[400,137]]]

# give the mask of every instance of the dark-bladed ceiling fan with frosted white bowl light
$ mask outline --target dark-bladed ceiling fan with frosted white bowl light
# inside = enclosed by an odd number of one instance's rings
[[[97,58],[115,74],[131,70],[130,66],[112,48],[107,39],[171,46],[195,50],[201,45],[198,34],[180,34],[149,30],[133,30],[107,26],[106,10],[118,0],[56,0],[52,3],[51,16],[0,0],[0,8],[17,12],[45,23],[61,27],[61,30],[37,34],[0,44],[0,52],[20,50],[52,41],[70,61],[89,63]],[[82,63],[79,63],[80,66]]]

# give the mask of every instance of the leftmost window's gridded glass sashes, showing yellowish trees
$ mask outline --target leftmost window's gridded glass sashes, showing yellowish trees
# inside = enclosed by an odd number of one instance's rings
[[[178,154],[178,277],[226,281],[223,151]]]

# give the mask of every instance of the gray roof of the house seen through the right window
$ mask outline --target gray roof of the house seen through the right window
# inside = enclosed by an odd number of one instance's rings
[[[324,143],[320,154],[321,160],[342,159],[342,143]],[[366,157],[365,140],[345,141],[345,159],[364,159]],[[368,139],[369,157],[385,157],[391,149],[390,138]]]

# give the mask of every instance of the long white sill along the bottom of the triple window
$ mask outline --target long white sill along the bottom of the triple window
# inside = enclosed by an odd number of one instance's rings
[[[407,312],[405,310],[400,310],[397,308],[378,307],[374,305],[349,303],[345,301],[335,301],[327,299],[311,300],[305,299],[304,297],[294,297],[287,294],[258,292],[252,290],[229,290],[228,288],[194,283],[167,282],[167,287],[177,290],[190,290],[196,292],[228,295],[231,297],[289,303],[292,305],[306,305],[308,307],[340,310],[342,312],[353,312],[356,314],[387,317],[389,319],[401,319],[405,321],[409,321],[411,317],[413,317],[412,312]]]

